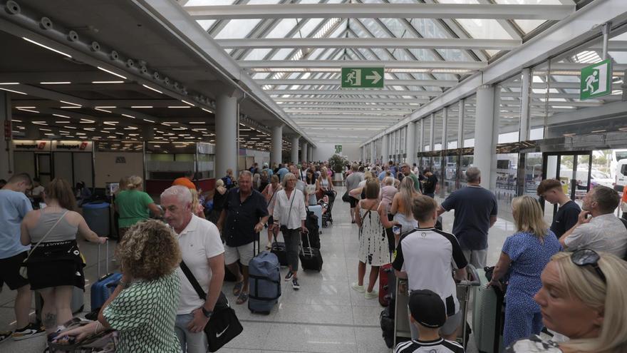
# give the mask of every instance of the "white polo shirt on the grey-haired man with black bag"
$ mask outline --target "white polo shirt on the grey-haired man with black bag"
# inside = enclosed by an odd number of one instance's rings
[[[190,268],[200,287],[208,292],[212,277],[208,259],[224,253],[224,245],[220,240],[218,228],[212,222],[192,215],[190,224],[180,234],[177,234],[177,240],[185,265]],[[185,273],[180,268],[177,268],[177,273],[181,280],[181,299],[177,315],[190,314],[193,310],[204,305],[204,300],[198,297],[192,283],[187,280]]]

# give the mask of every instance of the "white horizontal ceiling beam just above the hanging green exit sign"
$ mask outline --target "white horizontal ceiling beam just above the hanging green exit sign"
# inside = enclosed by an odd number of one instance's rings
[[[378,67],[460,70],[481,70],[484,61],[383,61],[383,60],[243,60],[237,61],[242,68],[343,68]]]

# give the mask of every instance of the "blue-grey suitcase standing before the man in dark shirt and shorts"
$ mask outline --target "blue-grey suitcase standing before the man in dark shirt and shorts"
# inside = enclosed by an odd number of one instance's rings
[[[270,314],[281,297],[279,259],[269,251],[259,252],[248,264],[248,277],[248,309],[253,313]]]

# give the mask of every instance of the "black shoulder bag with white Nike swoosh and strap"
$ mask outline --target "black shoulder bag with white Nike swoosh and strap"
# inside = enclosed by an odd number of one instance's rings
[[[180,267],[200,299],[207,300],[207,294],[202,290],[196,277],[194,277],[184,261],[181,261]],[[207,336],[207,342],[209,343],[209,352],[216,352],[224,344],[231,342],[232,339],[241,334],[242,331],[244,331],[244,327],[239,323],[235,310],[229,306],[229,301],[224,296],[224,293],[220,292],[213,314],[209,318],[209,322],[204,326],[204,334]]]

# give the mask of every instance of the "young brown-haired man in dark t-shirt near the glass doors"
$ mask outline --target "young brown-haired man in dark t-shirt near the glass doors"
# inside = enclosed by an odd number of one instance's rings
[[[564,193],[561,183],[557,179],[545,179],[538,185],[538,196],[549,201],[551,205],[558,204],[557,214],[551,223],[551,230],[559,239],[564,233],[574,227],[581,213],[581,208]]]

